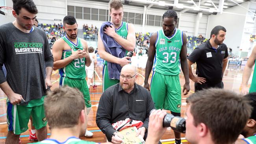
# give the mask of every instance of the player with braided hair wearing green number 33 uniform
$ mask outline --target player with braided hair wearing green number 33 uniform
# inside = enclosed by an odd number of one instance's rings
[[[187,37],[185,33],[175,28],[177,19],[175,11],[166,11],[163,14],[163,29],[151,36],[144,81],[144,87],[150,90],[156,109],[170,110],[174,116],[180,116],[181,109],[179,59],[185,77],[183,94],[188,94],[190,90]],[[149,88],[148,77],[152,66],[153,74]],[[175,144],[181,144],[180,133],[174,131],[174,135]]]

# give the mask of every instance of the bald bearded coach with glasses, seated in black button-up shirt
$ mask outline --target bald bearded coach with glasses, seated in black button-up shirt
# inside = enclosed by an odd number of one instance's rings
[[[112,124],[126,118],[143,122],[137,135],[147,138],[148,120],[150,111],[154,109],[154,102],[150,92],[135,83],[136,79],[136,68],[125,65],[121,70],[120,83],[106,89],[100,97],[96,123],[108,141],[114,144],[121,144],[122,139],[113,136],[118,133]]]

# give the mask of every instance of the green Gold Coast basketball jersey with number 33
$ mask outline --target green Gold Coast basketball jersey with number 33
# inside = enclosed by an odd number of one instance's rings
[[[163,75],[176,76],[180,73],[179,60],[182,48],[182,31],[176,29],[174,35],[166,37],[163,29],[158,31],[156,55],[153,71]]]

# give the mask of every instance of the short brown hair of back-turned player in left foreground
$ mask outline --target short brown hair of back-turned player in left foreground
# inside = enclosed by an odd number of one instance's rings
[[[68,86],[48,92],[44,105],[50,129],[76,126],[80,112],[85,109],[82,92]]]

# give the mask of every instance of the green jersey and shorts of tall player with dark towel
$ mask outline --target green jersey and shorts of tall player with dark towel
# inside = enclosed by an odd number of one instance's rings
[[[118,29],[115,29],[116,33],[118,35],[120,35],[123,39],[127,39],[127,35],[128,35],[128,23],[127,22],[122,22],[121,26]],[[127,50],[126,50],[126,54],[127,54]],[[109,87],[111,87],[112,85],[115,85],[117,83],[119,83],[119,79],[109,79],[108,76],[108,63],[107,61],[104,60],[104,66],[103,66],[103,70],[102,70],[102,74],[103,74],[103,82],[102,82],[102,91],[104,92],[106,89],[108,89]]]

